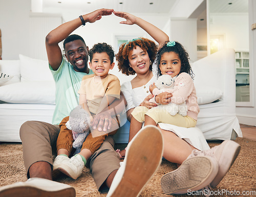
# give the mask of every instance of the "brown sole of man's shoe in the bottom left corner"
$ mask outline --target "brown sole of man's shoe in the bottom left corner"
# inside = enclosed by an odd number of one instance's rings
[[[18,186],[15,188],[9,188],[0,193],[1,197],[19,196],[19,197],[63,197],[63,196],[76,196],[74,188],[67,188],[58,191],[46,191],[31,186]]]

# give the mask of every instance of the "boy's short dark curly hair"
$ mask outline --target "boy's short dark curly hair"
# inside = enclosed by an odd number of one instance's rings
[[[90,61],[92,61],[93,59],[93,54],[103,52],[108,54],[110,62],[112,64],[114,62],[115,53],[112,46],[105,42],[94,44],[93,47],[89,50]]]

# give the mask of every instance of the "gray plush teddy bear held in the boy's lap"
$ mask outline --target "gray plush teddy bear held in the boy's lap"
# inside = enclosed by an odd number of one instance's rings
[[[73,147],[76,149],[75,154],[80,152],[82,143],[86,140],[86,137],[90,131],[90,117],[86,110],[80,105],[74,108],[69,115],[69,121],[66,126],[73,133]]]

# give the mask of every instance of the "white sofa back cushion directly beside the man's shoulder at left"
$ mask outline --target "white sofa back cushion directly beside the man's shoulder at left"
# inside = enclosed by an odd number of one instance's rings
[[[21,81],[54,81],[48,61],[19,54]]]

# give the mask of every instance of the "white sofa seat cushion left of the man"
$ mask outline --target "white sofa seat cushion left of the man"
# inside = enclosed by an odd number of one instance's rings
[[[33,81],[1,86],[0,101],[6,103],[55,104],[55,83],[53,81]]]

